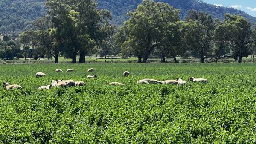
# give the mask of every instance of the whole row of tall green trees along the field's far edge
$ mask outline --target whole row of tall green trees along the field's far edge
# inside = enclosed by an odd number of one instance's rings
[[[218,20],[206,12],[190,10],[181,20],[180,10],[167,3],[143,0],[117,29],[110,23],[111,13],[98,9],[95,0],[47,0],[46,6],[48,15],[33,22],[35,29],[10,39],[20,43],[17,47],[32,47],[35,59],[44,55],[58,63],[62,55],[76,63],[79,55],[79,63],[85,63],[86,55],[96,54],[104,58],[136,56],[138,62],[146,63],[155,55],[162,62],[166,58],[177,62],[179,55],[197,57],[203,63],[205,58],[229,54],[242,62],[243,57],[256,51],[256,26],[251,29],[241,15],[225,14],[224,20]],[[8,46],[12,47],[2,44],[1,49],[7,52]],[[24,52],[20,54],[25,56]]]

